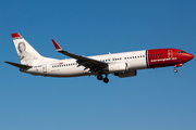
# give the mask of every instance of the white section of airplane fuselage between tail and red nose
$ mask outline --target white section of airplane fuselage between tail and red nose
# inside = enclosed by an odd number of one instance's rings
[[[88,56],[97,61],[106,62],[109,64],[126,63],[127,70],[145,69],[147,68],[146,50],[133,51],[124,53],[113,53],[105,55]],[[54,60],[41,64],[34,65],[33,68],[25,70],[33,75],[49,76],[49,77],[76,77],[85,75],[97,75],[89,72],[89,68],[85,69],[84,66],[78,65],[76,60]],[[107,72],[111,74],[111,72]]]

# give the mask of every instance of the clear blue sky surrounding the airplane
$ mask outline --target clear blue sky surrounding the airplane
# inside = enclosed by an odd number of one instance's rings
[[[195,58],[173,67],[138,70],[136,77],[48,78],[20,73],[11,38],[20,32],[41,55],[81,55],[176,48],[194,55],[194,0],[0,1],[1,130],[194,130]]]

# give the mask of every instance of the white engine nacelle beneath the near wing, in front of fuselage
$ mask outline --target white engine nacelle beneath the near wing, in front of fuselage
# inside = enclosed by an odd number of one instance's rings
[[[126,63],[112,63],[109,64],[108,70],[110,73],[125,72],[127,69]]]

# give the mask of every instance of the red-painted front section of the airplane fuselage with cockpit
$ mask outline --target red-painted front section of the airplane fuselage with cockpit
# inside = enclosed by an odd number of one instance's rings
[[[174,66],[189,61],[188,53],[179,53],[179,49],[154,49],[148,50],[148,67]]]

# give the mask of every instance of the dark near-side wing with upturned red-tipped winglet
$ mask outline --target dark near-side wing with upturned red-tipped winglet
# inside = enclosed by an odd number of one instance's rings
[[[108,66],[108,64],[105,62],[100,62],[100,61],[97,61],[94,58],[89,58],[86,56],[82,56],[82,55],[77,55],[77,54],[73,54],[68,51],[64,51],[53,39],[52,39],[52,42],[58,52],[65,54],[72,58],[75,58],[77,61],[78,65],[83,65],[85,67],[85,69],[90,68],[90,72],[96,72],[96,70],[99,70],[99,69]]]

